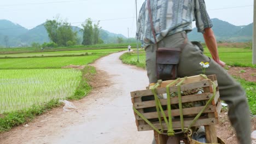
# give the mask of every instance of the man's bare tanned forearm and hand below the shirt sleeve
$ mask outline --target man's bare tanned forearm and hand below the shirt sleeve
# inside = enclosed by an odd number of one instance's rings
[[[212,58],[215,62],[217,62],[220,66],[224,67],[225,63],[220,61],[219,53],[217,49],[217,41],[215,35],[212,31],[212,28],[205,28],[205,33],[203,33],[203,38],[205,38],[206,46],[211,52]]]

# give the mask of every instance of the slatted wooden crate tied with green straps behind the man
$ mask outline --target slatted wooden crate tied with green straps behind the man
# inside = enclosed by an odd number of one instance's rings
[[[203,93],[201,94],[192,94],[192,95],[185,95],[182,96],[182,103],[190,103],[193,101],[208,101],[211,97],[213,97],[213,81],[216,84],[216,95],[215,98],[212,100],[212,103],[207,106],[205,111],[203,111],[203,115],[197,119],[194,126],[201,126],[201,125],[213,125],[218,124],[218,115],[220,110],[222,109],[222,105],[219,99],[219,91],[218,91],[218,83],[216,79],[216,75],[207,76],[208,79],[200,75],[187,77],[184,80],[183,84],[181,85],[181,91],[188,91],[195,88],[203,88]],[[184,78],[183,78],[184,79]],[[182,80],[182,79],[181,79]],[[171,83],[173,80],[170,81],[163,81],[159,88],[156,88],[158,94],[166,93],[166,86]],[[170,93],[177,92],[177,86],[170,87]],[[135,91],[131,92],[131,100],[133,107],[138,110],[144,117],[150,120],[153,125],[161,129],[160,123],[158,121],[158,113],[156,111],[148,111],[147,109],[153,109],[155,107],[155,100],[153,97],[152,90],[146,89],[143,91]],[[153,99],[152,99],[153,98]],[[145,99],[152,99],[145,101]],[[161,105],[166,107],[167,99],[160,99]],[[171,97],[171,105],[178,104],[178,97]],[[184,116],[184,127],[189,127],[190,123],[193,121],[194,116],[199,113],[204,106],[195,106],[195,107],[188,107],[183,109],[183,116]],[[174,129],[181,128],[181,122],[179,119],[179,109],[172,109],[172,123]],[[165,111],[165,115],[168,117],[167,110]],[[193,117],[190,117],[190,116]],[[139,117],[135,113],[136,118],[136,125],[138,131],[145,131],[145,130],[153,130],[150,125],[148,125],[141,117]],[[166,124],[162,121],[162,125],[164,129],[167,129]]]

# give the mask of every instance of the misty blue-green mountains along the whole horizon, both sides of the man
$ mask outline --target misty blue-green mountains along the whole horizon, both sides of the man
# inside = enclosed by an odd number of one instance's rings
[[[253,23],[247,26],[235,26],[219,19],[212,19],[212,22],[217,41],[244,42],[252,40]],[[77,31],[77,42],[82,43],[83,32],[81,28],[75,26],[72,28],[73,31]],[[100,31],[100,38],[104,43],[117,43],[117,37],[126,39],[122,34],[111,33],[104,29]],[[188,37],[191,41],[204,41],[202,34],[198,33],[196,28],[188,34]],[[42,44],[49,41],[43,23],[32,29],[26,29],[11,21],[0,20],[0,47],[27,46],[33,42]]]

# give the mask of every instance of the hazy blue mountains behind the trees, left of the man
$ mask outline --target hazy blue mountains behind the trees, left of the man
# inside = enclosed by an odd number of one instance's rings
[[[0,47],[28,46],[32,43],[48,43],[50,39],[43,25],[44,23],[28,30],[11,21],[0,20]],[[72,28],[73,31],[77,32],[77,43],[82,43],[82,29],[77,26],[72,26]],[[116,43],[117,37],[125,38],[122,34],[110,33],[101,29],[100,38],[104,43]]]

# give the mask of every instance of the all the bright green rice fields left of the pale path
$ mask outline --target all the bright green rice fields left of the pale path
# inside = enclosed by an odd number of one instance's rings
[[[23,50],[0,55],[0,114],[72,97],[82,82],[82,71],[62,67],[88,65],[124,49],[19,53]],[[82,87],[87,85],[84,82]]]

